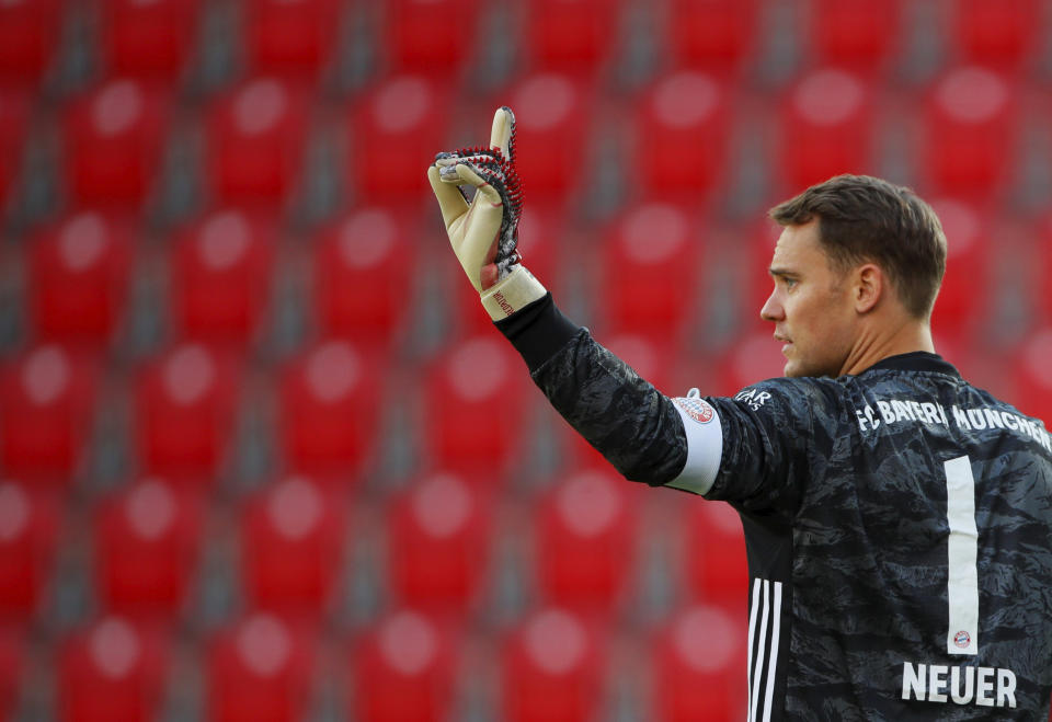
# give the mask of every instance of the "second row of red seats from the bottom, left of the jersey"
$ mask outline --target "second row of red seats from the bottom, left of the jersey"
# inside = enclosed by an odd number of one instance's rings
[[[637,597],[630,587],[641,573],[641,517],[654,498],[608,469],[560,475],[514,513],[502,512],[506,501],[476,477],[425,474],[379,509],[370,507],[382,525],[375,531],[351,528],[345,491],[293,474],[240,502],[232,522],[239,581],[231,593],[244,607],[322,622],[351,604],[345,577],[354,563],[345,552],[355,539],[382,550],[382,581],[375,582],[391,606],[471,619],[491,594],[506,594],[495,583],[507,573],[498,564],[511,532],[496,519],[508,514],[522,515],[516,525],[524,524],[528,561],[518,584],[535,589],[529,596],[604,618]],[[62,549],[70,541],[64,505],[56,494],[15,481],[0,485],[0,622],[31,624],[54,614],[56,560],[71,551]],[[184,619],[205,583],[203,561],[226,534],[209,531],[218,513],[209,496],[150,477],[88,511],[93,606],[141,621]],[[698,502],[685,504],[682,515],[687,551],[679,574],[687,596],[742,603],[747,577],[737,517]]]

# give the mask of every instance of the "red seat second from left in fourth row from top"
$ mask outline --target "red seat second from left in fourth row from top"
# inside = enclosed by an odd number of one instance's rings
[[[146,364],[133,425],[140,468],[210,482],[229,450],[239,387],[237,365],[201,344],[178,345]]]

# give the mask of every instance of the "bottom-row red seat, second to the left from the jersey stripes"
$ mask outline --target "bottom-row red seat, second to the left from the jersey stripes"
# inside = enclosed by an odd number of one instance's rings
[[[525,619],[501,651],[500,718],[587,722],[602,702],[602,640],[579,617],[551,607]]]

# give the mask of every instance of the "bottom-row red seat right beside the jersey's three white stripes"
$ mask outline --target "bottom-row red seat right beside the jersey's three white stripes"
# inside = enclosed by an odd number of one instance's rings
[[[741,608],[744,618],[744,607]],[[673,617],[651,646],[658,722],[747,717],[746,629],[734,612],[695,606]]]

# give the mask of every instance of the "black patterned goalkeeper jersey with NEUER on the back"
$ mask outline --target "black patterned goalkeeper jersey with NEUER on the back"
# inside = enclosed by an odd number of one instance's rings
[[[498,326],[628,479],[729,502],[750,720],[1031,720],[1052,691],[1052,437],[934,354],[671,399],[550,296]]]

